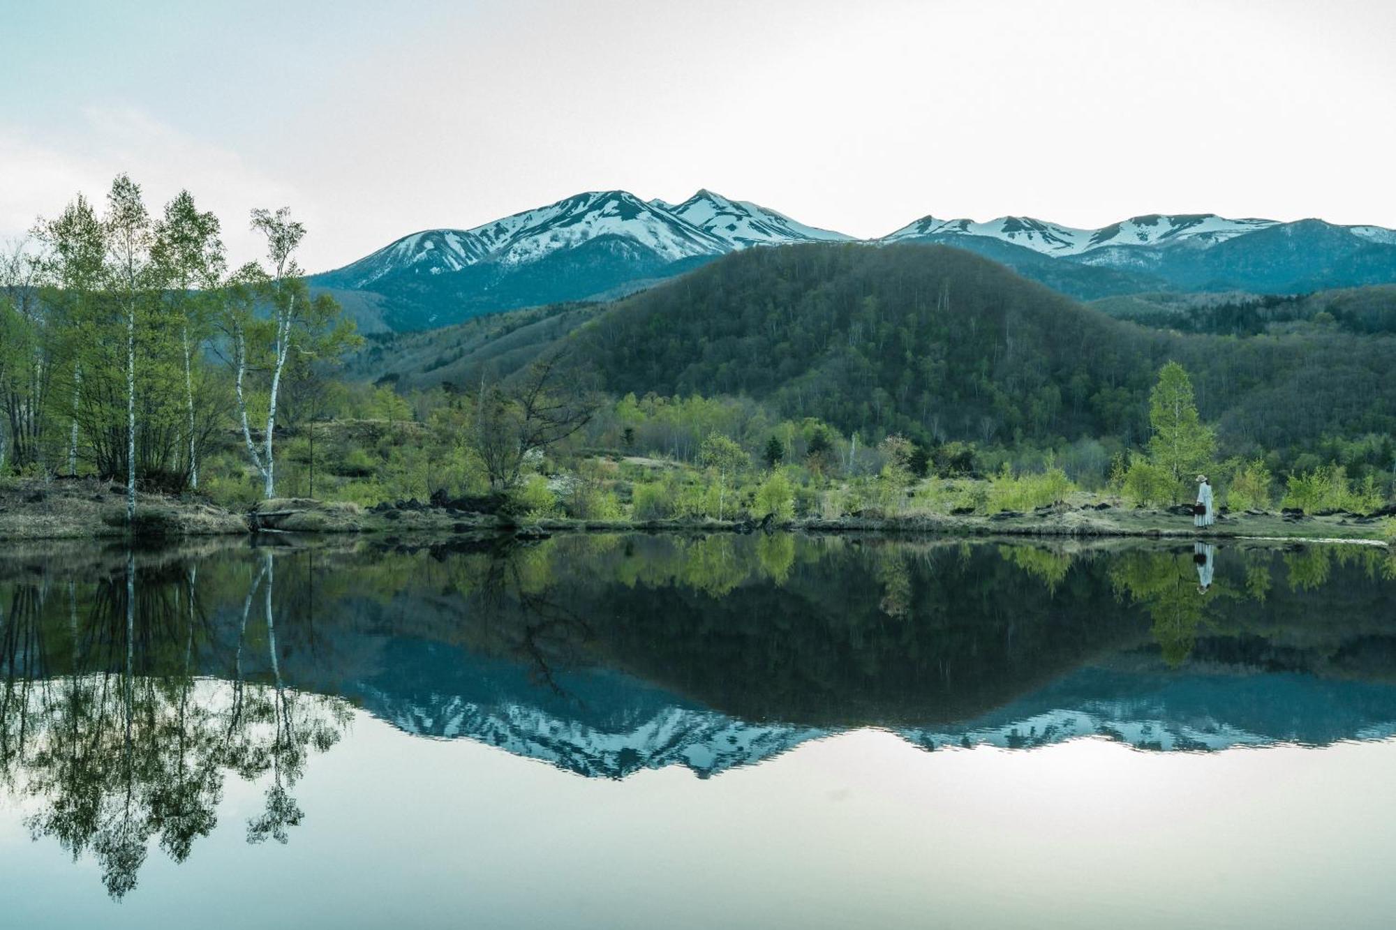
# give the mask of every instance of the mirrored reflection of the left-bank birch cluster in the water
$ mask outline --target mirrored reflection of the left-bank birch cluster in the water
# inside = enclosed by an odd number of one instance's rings
[[[242,658],[264,575],[276,672],[272,684],[253,684]],[[152,841],[183,862],[212,832],[223,778],[235,771],[271,778],[267,813],[248,839],[285,842],[285,828],[300,818],[289,788],[311,751],[338,740],[348,715],[338,701],[281,686],[268,566],[248,578],[228,683],[198,676],[216,630],[191,568],[138,571],[128,557],[119,574],[71,581],[67,598],[45,603],[38,584],[14,584],[8,595],[11,609],[0,613],[0,772],[11,790],[40,802],[27,818],[35,838],[52,836],[74,859],[91,853],[107,891],[121,898]]]

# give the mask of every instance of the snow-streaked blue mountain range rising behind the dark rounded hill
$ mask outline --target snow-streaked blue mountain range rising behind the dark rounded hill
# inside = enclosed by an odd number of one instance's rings
[[[403,236],[311,276],[364,330],[426,330],[501,310],[623,296],[752,246],[860,242],[699,190],[670,204],[591,191],[473,229]],[[1150,290],[1294,293],[1396,282],[1396,230],[1148,214],[1075,229],[1030,216],[923,216],[867,243],[976,251],[1079,299]]]

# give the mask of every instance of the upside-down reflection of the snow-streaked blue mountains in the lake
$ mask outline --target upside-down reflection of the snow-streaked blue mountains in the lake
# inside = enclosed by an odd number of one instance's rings
[[[507,662],[452,660],[426,644],[394,652],[401,669],[353,686],[370,714],[409,733],[470,739],[592,778],[666,765],[706,778],[838,732],[745,722],[609,672],[567,676],[557,694]],[[1153,750],[1328,746],[1396,736],[1396,687],[1294,672],[1086,667],[960,723],[892,732],[926,748],[1032,748],[1081,736]]]

